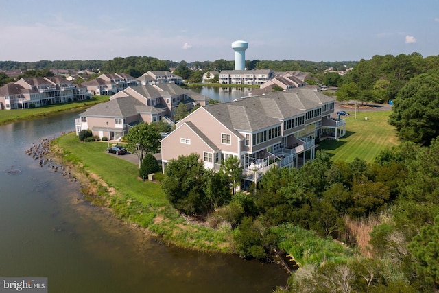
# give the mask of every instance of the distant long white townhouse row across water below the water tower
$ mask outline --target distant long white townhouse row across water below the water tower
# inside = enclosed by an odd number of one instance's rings
[[[272,69],[223,70],[219,73],[219,84],[263,84],[274,78]]]

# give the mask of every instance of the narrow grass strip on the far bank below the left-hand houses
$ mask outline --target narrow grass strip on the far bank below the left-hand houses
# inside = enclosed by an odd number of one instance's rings
[[[38,119],[50,115],[57,115],[60,112],[69,110],[80,110],[81,108],[88,108],[90,106],[93,106],[94,104],[108,101],[108,97],[108,95],[97,95],[94,96],[92,99],[85,101],[53,104],[33,109],[0,110],[0,125],[22,120]]]

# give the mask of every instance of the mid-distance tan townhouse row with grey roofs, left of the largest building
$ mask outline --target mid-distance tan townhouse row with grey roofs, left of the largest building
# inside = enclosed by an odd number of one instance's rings
[[[161,121],[174,116],[178,104],[188,110],[206,105],[209,98],[169,84],[130,86],[112,95],[108,102],[97,104],[80,113],[75,119],[76,134],[89,129],[93,136],[119,141],[131,126],[142,122]]]

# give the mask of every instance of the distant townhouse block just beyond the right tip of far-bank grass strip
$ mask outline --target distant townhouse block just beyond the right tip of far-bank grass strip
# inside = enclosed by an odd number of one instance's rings
[[[91,95],[114,95],[128,86],[137,86],[139,81],[126,73],[104,73],[98,78],[82,82]]]

